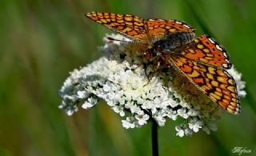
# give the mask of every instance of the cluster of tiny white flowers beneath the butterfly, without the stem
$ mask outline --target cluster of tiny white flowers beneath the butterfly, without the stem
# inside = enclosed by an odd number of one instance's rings
[[[129,40],[121,35],[111,38]],[[190,136],[199,129],[210,134],[217,130],[220,109],[193,84],[170,67],[161,67],[154,73],[154,63],[143,62],[139,46],[126,42],[109,41],[101,48],[105,55],[80,70],[74,70],[64,82],[59,106],[68,115],[78,106],[89,109],[102,98],[122,118],[122,126],[134,128],[150,120],[164,126],[166,119],[182,118],[175,127],[180,137]],[[145,61],[145,60],[144,60]],[[241,74],[230,71],[242,89]]]

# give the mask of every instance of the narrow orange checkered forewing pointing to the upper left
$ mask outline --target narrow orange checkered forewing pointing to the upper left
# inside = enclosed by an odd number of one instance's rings
[[[90,12],[86,14],[86,17],[134,41],[146,42],[147,33],[144,26],[145,21],[138,16],[131,14]]]

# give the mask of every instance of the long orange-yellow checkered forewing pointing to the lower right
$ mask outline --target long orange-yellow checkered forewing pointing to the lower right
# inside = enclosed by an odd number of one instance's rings
[[[206,66],[178,55],[167,55],[166,61],[174,64],[186,78],[193,82],[219,106],[231,114],[238,114],[240,104],[234,78],[219,68]]]

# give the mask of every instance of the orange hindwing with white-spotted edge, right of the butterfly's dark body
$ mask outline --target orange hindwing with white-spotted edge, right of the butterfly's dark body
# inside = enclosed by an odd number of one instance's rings
[[[194,42],[184,47],[180,54],[186,58],[202,62],[211,66],[230,69],[231,62],[226,50],[213,38],[202,35],[195,38]]]

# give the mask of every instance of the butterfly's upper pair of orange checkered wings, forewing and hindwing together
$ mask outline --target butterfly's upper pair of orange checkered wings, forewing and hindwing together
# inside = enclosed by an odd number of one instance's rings
[[[116,31],[134,41],[152,43],[166,34],[175,32],[193,32],[194,28],[177,20],[148,19],[144,20],[131,14],[113,14],[90,12],[87,18]]]

